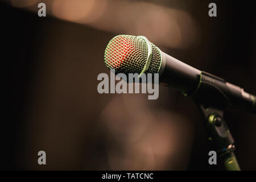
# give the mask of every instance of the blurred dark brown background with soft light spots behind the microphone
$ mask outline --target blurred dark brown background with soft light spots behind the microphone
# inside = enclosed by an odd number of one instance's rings
[[[46,3],[46,17],[38,3]],[[0,1],[1,60],[9,90],[1,127],[1,169],[220,170],[190,98],[159,87],[147,94],[99,94],[109,40],[144,35],[162,51],[256,94],[256,16],[246,3],[214,1]],[[5,95],[4,95],[5,97]],[[243,170],[256,170],[256,116],[225,119]],[[47,165],[38,165],[38,151]],[[217,160],[217,163],[220,160]]]

